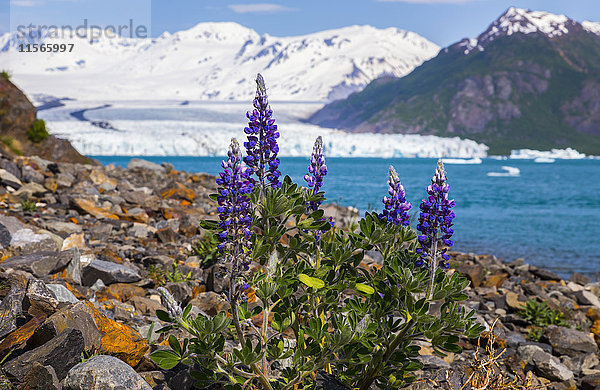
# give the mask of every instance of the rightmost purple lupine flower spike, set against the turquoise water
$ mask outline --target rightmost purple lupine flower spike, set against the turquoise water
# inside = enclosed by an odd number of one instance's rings
[[[448,263],[450,256],[447,251],[454,244],[450,239],[454,233],[452,229],[454,199],[448,200],[449,189],[444,164],[442,160],[438,160],[431,185],[427,187],[428,197],[421,203],[421,213],[417,225],[417,229],[422,233],[418,237],[421,244],[421,248],[417,249],[417,253],[421,255],[418,265],[424,264],[429,258],[433,271],[438,264],[436,257],[440,247],[442,247],[440,251],[442,259],[439,261],[439,265],[446,269],[450,267]]]

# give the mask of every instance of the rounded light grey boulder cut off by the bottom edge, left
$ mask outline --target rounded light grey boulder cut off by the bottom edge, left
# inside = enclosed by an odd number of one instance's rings
[[[98,355],[73,367],[63,390],[151,390],[150,385],[126,363]]]

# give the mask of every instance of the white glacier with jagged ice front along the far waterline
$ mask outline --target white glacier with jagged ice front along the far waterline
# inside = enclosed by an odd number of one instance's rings
[[[98,103],[88,104],[95,108]],[[273,103],[281,134],[280,156],[309,156],[314,140],[323,137],[329,157],[448,157],[483,158],[488,147],[458,137],[347,133],[303,123],[306,113],[321,107],[309,103]],[[92,156],[222,156],[231,138],[245,139],[243,129],[249,104],[123,102],[86,111],[86,121],[71,113],[81,102],[42,110],[49,131],[68,139],[85,155]],[[83,108],[85,109],[85,108]],[[156,118],[161,118],[157,120]],[[100,127],[103,126],[103,127]]]

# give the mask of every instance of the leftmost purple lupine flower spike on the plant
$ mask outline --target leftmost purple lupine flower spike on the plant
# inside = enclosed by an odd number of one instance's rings
[[[247,268],[249,252],[251,250],[250,225],[252,216],[248,194],[252,192],[254,184],[250,180],[251,170],[242,161],[242,152],[237,140],[233,138],[228,159],[221,163],[223,172],[219,173],[217,184],[219,186],[217,197],[217,211],[221,221],[221,233],[218,245],[222,253],[228,252],[235,263]]]

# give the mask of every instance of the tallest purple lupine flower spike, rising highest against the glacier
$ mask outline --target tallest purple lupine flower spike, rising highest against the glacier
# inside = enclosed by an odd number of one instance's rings
[[[260,75],[256,75],[256,96],[254,98],[254,110],[248,111],[248,127],[244,132],[248,134],[248,141],[244,142],[247,156],[244,161],[251,168],[253,173],[256,173],[261,187],[264,188],[265,179],[268,180],[271,187],[279,188],[281,182],[279,177],[279,146],[277,138],[279,132],[275,119],[272,119],[273,110],[269,106],[267,99],[267,89],[265,81]]]

